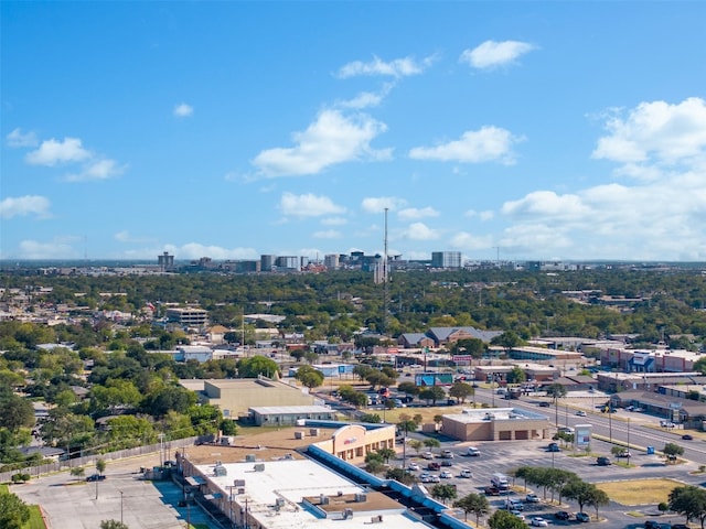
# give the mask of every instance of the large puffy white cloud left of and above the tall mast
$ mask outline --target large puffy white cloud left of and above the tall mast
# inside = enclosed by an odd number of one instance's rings
[[[304,131],[292,134],[296,147],[261,151],[253,164],[261,176],[317,174],[343,162],[388,160],[389,149],[375,150],[370,143],[387,129],[365,115],[344,116],[323,110]]]

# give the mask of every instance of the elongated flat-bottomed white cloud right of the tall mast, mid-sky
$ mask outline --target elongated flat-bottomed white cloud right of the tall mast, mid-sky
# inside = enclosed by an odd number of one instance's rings
[[[437,147],[416,147],[409,151],[409,158],[461,163],[500,161],[512,164],[514,163],[512,147],[522,140],[505,129],[483,127],[480,130],[463,132],[460,140]]]

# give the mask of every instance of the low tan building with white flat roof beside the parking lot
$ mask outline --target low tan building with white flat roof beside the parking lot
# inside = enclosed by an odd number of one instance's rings
[[[516,408],[464,409],[442,415],[441,431],[460,441],[521,441],[548,439],[546,415]]]

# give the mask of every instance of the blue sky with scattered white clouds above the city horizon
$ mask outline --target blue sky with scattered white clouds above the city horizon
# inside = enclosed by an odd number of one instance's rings
[[[706,260],[706,2],[12,2],[0,258]]]

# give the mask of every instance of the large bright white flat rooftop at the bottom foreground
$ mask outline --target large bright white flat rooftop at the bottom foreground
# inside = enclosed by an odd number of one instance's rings
[[[264,465],[261,471],[256,471],[255,465]],[[385,528],[409,529],[429,527],[422,521],[404,514],[405,507],[400,504],[398,509],[362,510],[356,509],[346,520],[334,517],[321,517],[302,505],[304,497],[325,495],[335,497],[343,495],[367,494],[368,492],[339,474],[329,471],[311,460],[281,460],[258,461],[243,463],[224,463],[227,474],[215,476],[215,462],[212,465],[197,465],[208,479],[220,488],[220,494],[227,497],[233,490],[233,508],[245,507],[250,512],[252,521],[267,529],[307,529],[311,527],[321,529],[370,529],[371,518],[384,515]],[[245,482],[244,494],[237,494],[234,479]],[[215,490],[214,490],[215,492]],[[276,509],[277,500],[280,505]],[[363,506],[363,504],[360,504]],[[374,503],[371,504],[374,507]],[[254,527],[254,523],[252,523]]]

